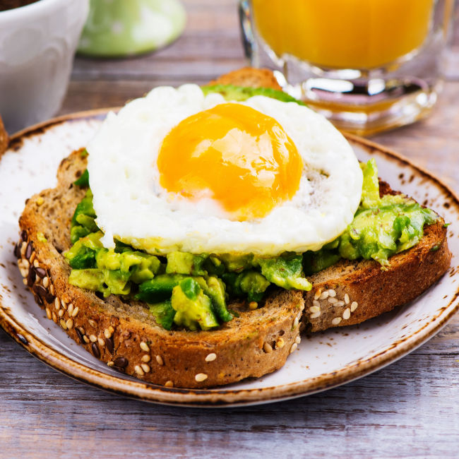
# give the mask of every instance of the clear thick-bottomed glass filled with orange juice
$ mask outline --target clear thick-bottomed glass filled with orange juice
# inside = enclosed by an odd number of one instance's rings
[[[434,105],[453,0],[241,0],[252,66],[345,131],[408,124]]]

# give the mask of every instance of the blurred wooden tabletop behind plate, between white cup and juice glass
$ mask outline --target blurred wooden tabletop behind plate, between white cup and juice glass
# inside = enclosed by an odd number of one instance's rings
[[[128,59],[77,56],[61,113],[124,105],[157,85],[207,83],[246,65],[237,0],[182,0],[183,34],[169,46]]]

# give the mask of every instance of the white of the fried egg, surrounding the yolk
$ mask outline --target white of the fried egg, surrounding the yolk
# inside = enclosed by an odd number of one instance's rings
[[[151,254],[169,251],[275,256],[318,250],[352,221],[362,171],[345,138],[321,115],[293,102],[255,96],[245,102],[276,119],[304,161],[294,198],[254,221],[232,221],[219,203],[171,199],[159,183],[163,138],[186,117],[227,101],[197,85],[160,87],[109,113],[88,145],[88,172],[105,246],[114,239]]]

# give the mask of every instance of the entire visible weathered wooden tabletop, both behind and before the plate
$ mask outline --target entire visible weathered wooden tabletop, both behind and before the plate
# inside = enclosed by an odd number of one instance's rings
[[[77,58],[61,113],[122,105],[155,85],[244,64],[235,0],[184,1],[184,35],[156,54]],[[454,70],[454,69],[453,69]],[[375,141],[459,192],[459,68],[431,116]],[[59,374],[0,330],[0,457],[459,457],[459,317],[412,354],[325,393],[259,407],[149,405]]]

